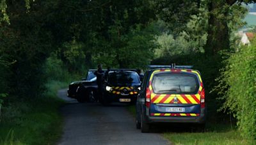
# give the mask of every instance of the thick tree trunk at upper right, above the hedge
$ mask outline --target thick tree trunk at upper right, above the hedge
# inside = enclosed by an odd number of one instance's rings
[[[228,11],[226,10],[223,18],[218,17],[218,15],[220,14],[220,12],[218,11],[220,11],[220,9],[224,7],[224,4],[225,2],[223,1],[211,0],[209,2],[208,9],[210,16],[208,20],[209,27],[207,42],[205,45],[206,55],[214,55],[220,50],[229,48],[229,32],[227,19],[225,18]]]

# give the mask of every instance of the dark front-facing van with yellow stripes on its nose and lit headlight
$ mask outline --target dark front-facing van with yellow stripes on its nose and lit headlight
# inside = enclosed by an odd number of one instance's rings
[[[111,69],[103,85],[102,104],[111,102],[136,102],[141,80],[136,69]]]

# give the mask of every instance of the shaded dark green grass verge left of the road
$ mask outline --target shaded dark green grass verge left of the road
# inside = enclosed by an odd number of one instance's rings
[[[48,91],[36,99],[8,100],[0,123],[0,144],[55,144],[62,134],[59,108],[64,103],[56,92],[63,84],[47,83]]]

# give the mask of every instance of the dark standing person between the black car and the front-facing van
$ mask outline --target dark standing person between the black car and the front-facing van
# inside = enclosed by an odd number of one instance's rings
[[[98,97],[102,95],[103,81],[104,81],[104,71],[102,70],[102,65],[98,65],[98,70],[94,72],[97,77],[97,85],[98,85]]]

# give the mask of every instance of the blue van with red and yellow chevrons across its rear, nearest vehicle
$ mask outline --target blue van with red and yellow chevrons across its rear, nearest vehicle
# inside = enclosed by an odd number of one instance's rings
[[[136,127],[149,132],[154,123],[205,124],[205,90],[200,72],[189,66],[151,66],[136,102]]]

